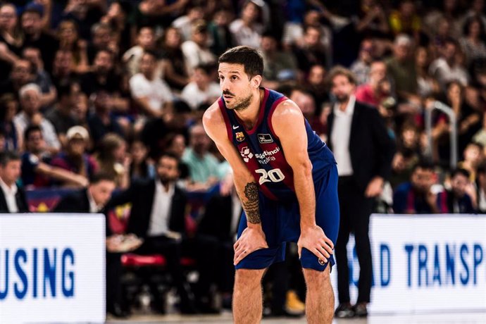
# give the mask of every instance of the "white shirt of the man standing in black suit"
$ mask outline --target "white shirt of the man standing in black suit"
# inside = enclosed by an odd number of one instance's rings
[[[349,96],[346,110],[339,109],[339,104],[334,106],[334,123],[332,124],[331,144],[332,153],[337,162],[337,174],[353,175],[351,155],[349,154],[349,136],[351,135],[351,122],[353,120],[354,104],[356,98]]]

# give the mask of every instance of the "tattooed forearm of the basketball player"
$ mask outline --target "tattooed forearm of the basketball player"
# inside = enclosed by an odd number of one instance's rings
[[[258,185],[251,175],[239,177],[235,185],[239,200],[242,201],[244,213],[247,215],[247,225],[249,228],[261,226],[260,201],[258,198]]]

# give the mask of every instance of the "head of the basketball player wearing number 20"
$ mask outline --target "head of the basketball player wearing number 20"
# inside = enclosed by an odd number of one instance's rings
[[[247,108],[256,95],[263,75],[263,58],[256,49],[237,46],[219,58],[218,76],[228,109]]]

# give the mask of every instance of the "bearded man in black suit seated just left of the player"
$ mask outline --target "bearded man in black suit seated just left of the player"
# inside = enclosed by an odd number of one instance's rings
[[[155,180],[133,182],[111,199],[108,209],[132,204],[127,232],[144,239],[135,253],[163,254],[166,257],[169,273],[181,299],[180,311],[194,313],[194,296],[180,266],[187,197],[175,185],[179,177],[179,159],[173,154],[163,154],[157,160],[156,170],[158,177]],[[155,304],[161,306],[158,297],[156,294]]]

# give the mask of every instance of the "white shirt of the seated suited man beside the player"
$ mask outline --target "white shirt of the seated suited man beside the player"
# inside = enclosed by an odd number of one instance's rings
[[[175,185],[170,184],[168,191],[160,179],[155,180],[154,204],[150,214],[149,237],[166,234],[169,230],[170,207],[174,196]]]

